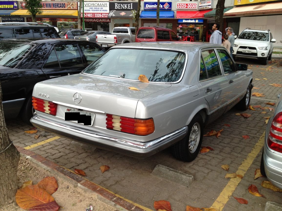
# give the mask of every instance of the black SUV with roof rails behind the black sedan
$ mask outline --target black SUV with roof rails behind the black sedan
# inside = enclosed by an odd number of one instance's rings
[[[53,26],[0,25],[0,40],[6,38],[60,38]]]

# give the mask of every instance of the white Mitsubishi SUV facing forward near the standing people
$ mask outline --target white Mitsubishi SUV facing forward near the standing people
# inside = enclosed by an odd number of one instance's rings
[[[246,28],[234,41],[233,58],[259,59],[266,65],[271,59],[273,42],[276,39],[272,38],[269,30]]]

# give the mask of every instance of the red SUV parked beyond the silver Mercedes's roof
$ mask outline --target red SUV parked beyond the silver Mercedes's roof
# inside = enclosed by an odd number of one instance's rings
[[[145,27],[137,31],[135,42],[179,41],[176,33],[166,27]]]

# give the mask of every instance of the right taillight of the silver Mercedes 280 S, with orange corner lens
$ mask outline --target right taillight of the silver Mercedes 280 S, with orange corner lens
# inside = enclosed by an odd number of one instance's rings
[[[106,127],[109,130],[146,136],[155,131],[154,121],[150,119],[135,119],[107,114]]]

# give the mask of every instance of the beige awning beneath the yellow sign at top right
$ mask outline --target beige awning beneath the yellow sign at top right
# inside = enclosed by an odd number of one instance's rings
[[[282,2],[267,3],[260,5],[249,5],[249,6],[236,6],[235,8],[224,12],[224,15],[252,15],[252,14],[281,14],[282,13]]]

